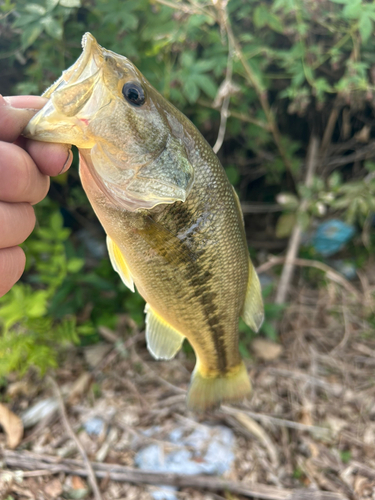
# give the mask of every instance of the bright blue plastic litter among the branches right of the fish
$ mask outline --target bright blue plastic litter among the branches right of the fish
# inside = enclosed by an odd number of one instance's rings
[[[353,226],[338,219],[331,219],[318,226],[312,245],[318,253],[329,257],[341,250],[354,233]]]

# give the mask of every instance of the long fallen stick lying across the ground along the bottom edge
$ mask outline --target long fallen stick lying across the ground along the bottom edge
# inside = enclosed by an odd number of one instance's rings
[[[87,477],[88,471],[81,460],[60,459],[46,455],[38,455],[24,451],[2,450],[0,456],[7,467],[17,470],[38,470],[42,475],[46,471],[53,474],[64,472],[76,476]],[[262,500],[348,500],[339,493],[312,491],[307,489],[281,489],[263,484],[244,484],[239,481],[227,481],[218,477],[188,476],[168,472],[151,472],[133,469],[122,465],[90,463],[97,478],[109,477],[113,481],[134,484],[150,484],[157,486],[176,486],[178,488],[195,488],[210,491],[228,491],[249,498]],[[6,472],[9,474],[9,472]]]

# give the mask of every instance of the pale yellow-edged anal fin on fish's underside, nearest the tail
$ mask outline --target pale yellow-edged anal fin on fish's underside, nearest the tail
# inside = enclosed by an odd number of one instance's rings
[[[172,359],[180,350],[184,336],[146,304],[146,340],[156,359]]]

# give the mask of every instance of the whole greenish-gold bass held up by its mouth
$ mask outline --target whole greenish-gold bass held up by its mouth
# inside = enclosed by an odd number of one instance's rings
[[[188,408],[241,401],[251,384],[239,318],[258,331],[264,309],[236,191],[198,129],[129,59],[90,33],[82,49],[23,134],[77,146],[112,266],[146,301],[150,353],[172,359],[185,338],[194,349]]]

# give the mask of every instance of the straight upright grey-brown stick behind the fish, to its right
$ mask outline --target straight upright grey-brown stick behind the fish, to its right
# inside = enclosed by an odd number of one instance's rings
[[[306,172],[306,187],[312,184],[314,172],[318,163],[319,140],[315,135],[311,135],[310,144],[307,151],[307,172]],[[302,200],[300,205],[301,212],[307,208],[307,200]],[[289,240],[288,249],[286,252],[285,265],[281,273],[279,286],[277,287],[275,303],[284,304],[288,295],[290,282],[293,278],[294,261],[301,244],[302,225],[297,222]]]

